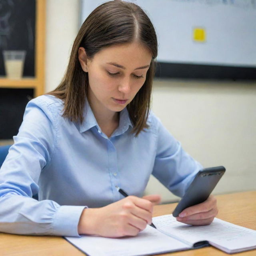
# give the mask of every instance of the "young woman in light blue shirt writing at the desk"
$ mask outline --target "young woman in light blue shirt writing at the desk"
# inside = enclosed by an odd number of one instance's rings
[[[0,170],[0,232],[135,236],[160,202],[142,197],[150,174],[184,194],[202,166],[150,112],[156,56],[135,4],[106,2],[88,16],[61,84],[26,106]],[[205,225],[216,214],[210,196],[177,220]]]

